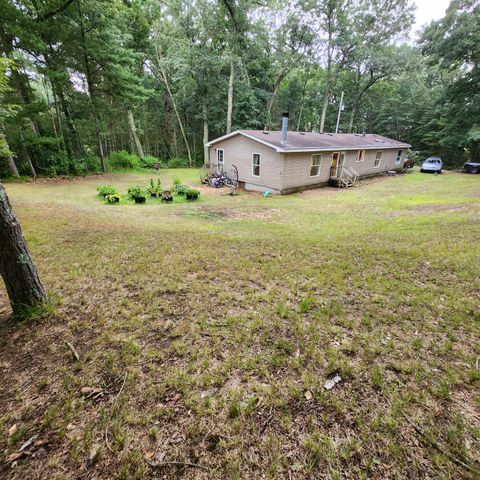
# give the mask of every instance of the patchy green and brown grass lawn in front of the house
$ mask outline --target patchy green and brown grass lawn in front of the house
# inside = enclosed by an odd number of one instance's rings
[[[150,176],[6,186],[57,307],[0,289],[1,478],[478,478],[479,176],[96,197]]]

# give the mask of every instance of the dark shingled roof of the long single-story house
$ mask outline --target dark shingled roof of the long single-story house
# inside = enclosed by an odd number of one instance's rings
[[[247,137],[266,142],[284,151],[306,149],[342,149],[342,148],[400,148],[409,147],[407,143],[372,133],[315,133],[291,132],[287,134],[287,143],[283,145],[281,131],[239,130]],[[212,142],[213,143],[213,142]]]

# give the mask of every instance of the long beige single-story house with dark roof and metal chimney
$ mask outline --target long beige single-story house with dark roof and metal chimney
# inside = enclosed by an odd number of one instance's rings
[[[206,144],[210,170],[238,170],[239,186],[286,194],[401,170],[407,143],[380,135],[237,130]]]

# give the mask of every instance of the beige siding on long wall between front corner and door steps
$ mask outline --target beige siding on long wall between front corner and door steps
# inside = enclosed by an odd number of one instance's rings
[[[310,167],[312,165],[312,155],[316,154],[322,155],[320,173],[317,176],[311,177]],[[302,187],[304,185],[328,182],[330,179],[331,164],[331,153],[286,153],[283,168],[283,188]]]

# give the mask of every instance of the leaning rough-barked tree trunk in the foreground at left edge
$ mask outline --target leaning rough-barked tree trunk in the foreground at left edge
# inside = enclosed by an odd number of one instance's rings
[[[0,183],[0,274],[14,314],[47,301],[20,224]]]

